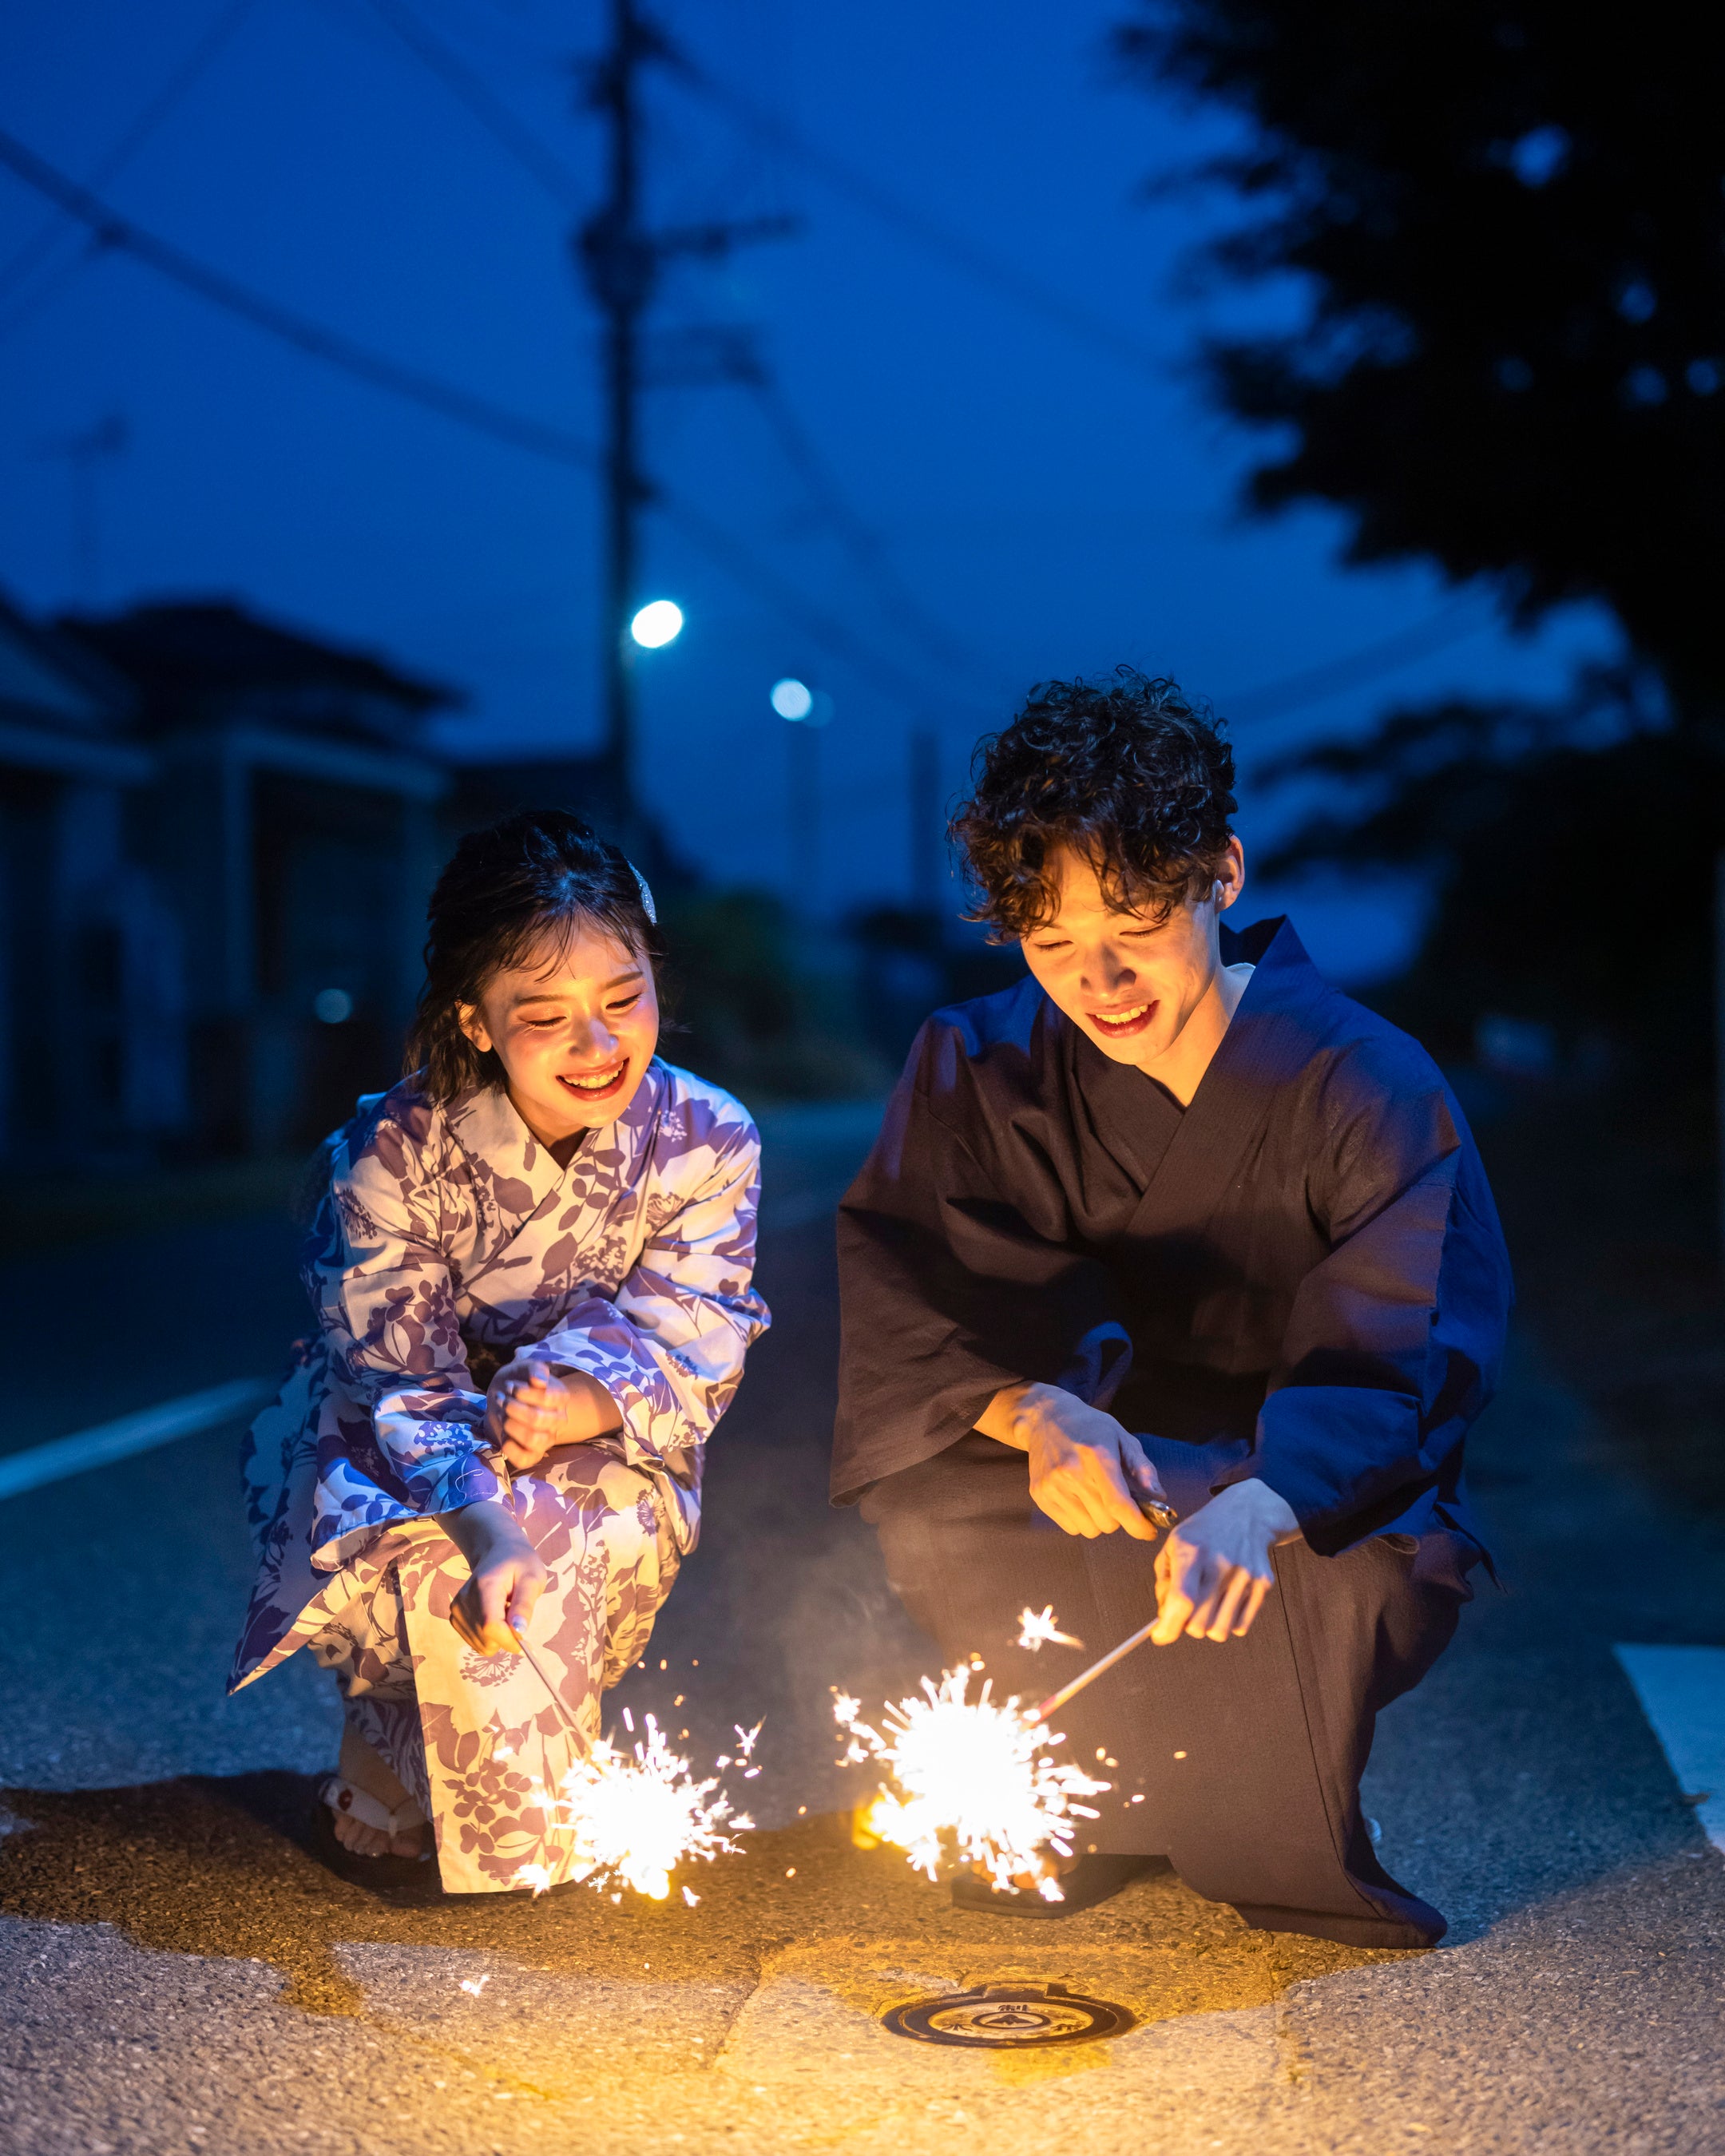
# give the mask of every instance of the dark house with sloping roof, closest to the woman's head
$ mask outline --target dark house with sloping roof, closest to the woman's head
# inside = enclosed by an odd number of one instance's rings
[[[459,694],[231,599],[60,636],[149,763],[127,854],[181,927],[188,1147],[304,1145],[399,1074],[448,791],[425,731]]]

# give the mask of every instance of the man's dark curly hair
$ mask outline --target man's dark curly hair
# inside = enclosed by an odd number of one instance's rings
[[[970,759],[970,800],[947,837],[970,884],[968,921],[994,942],[1057,908],[1048,858],[1080,852],[1110,906],[1164,921],[1201,899],[1233,837],[1233,750],[1175,681],[1132,666],[1104,681],[1041,681]]]

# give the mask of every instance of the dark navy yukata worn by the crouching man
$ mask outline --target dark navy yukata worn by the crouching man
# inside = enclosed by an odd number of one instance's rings
[[[1052,1602],[1093,1651],[1156,1608],[1156,1546],[1065,1535],[975,1432],[1061,1384],[1141,1434],[1182,1514],[1244,1477],[1302,1526],[1246,1639],[1145,1647],[1059,1716],[1108,1768],[1093,1848],[1169,1856],[1255,1925],[1432,1945],[1374,1856],[1378,1710],[1449,1643],[1484,1546],[1462,1440],[1492,1395],[1509,1261],[1432,1059],[1330,990],[1285,921],[1188,1108],[1035,981],[938,1011],[839,1214],[832,1494],[949,1660],[1033,1699],[1080,1667],[1016,1645]],[[1136,1802],[1134,1802],[1136,1798]]]

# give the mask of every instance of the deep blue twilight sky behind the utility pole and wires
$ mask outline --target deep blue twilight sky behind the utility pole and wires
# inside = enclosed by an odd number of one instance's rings
[[[380,354],[593,440],[595,323],[567,244],[602,183],[574,63],[597,50],[604,13],[597,0],[13,0],[0,127],[93,181],[175,91],[106,185],[116,207]],[[651,395],[649,470],[724,537],[714,558],[649,522],[643,597],[675,597],[688,627],[643,660],[643,780],[712,875],[787,880],[791,729],[768,707],[781,675],[832,696],[817,893],[830,912],[906,893],[912,727],[938,731],[951,789],[975,735],[1035,677],[1130,660],[1223,711],[1238,699],[1251,770],[1268,748],[1363,727],[1391,696],[1542,692],[1611,645],[1583,612],[1512,640],[1484,595],[1458,604],[1423,569],[1343,571],[1326,515],[1240,522],[1251,444],[1197,401],[1182,358],[1203,323],[1261,321],[1296,295],[1175,287],[1225,205],[1147,203],[1143,183],[1227,129],[1119,86],[1104,41],[1121,13],[1123,0],[656,11],[718,91],[673,71],[651,84],[653,216],[802,220],[796,239],[675,270],[656,319],[755,332],[781,410],[865,530],[841,541],[753,390]],[[403,15],[552,170],[535,179],[483,129],[392,26]],[[1031,295],[968,274],[953,259],[966,250]],[[125,257],[91,257],[6,175],[0,388],[0,584],[19,602],[229,593],[466,688],[470,709],[444,729],[461,752],[593,744],[591,476],[343,379]],[[93,468],[91,565],[65,444],[112,416],[127,440]],[[867,535],[884,576],[858,565]],[[787,612],[737,582],[731,543],[806,604]],[[1251,696],[1434,617],[1427,642],[1443,647],[1369,683],[1294,709]],[[867,660],[826,649],[826,621]],[[1264,837],[1274,815],[1248,798],[1242,828]],[[1389,955],[1406,908],[1307,897],[1300,918],[1322,957],[1361,972]]]

